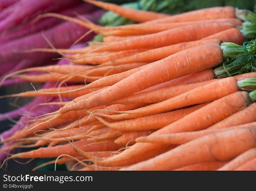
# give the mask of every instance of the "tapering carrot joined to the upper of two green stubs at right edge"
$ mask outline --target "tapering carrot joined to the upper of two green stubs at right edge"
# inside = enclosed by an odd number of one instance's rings
[[[237,80],[234,77],[222,78],[221,80],[215,79],[211,83],[207,83],[159,103],[154,103],[136,110],[119,111],[116,113],[120,114],[116,115],[99,114],[99,116],[117,120],[153,115],[194,104],[214,101],[238,90]]]

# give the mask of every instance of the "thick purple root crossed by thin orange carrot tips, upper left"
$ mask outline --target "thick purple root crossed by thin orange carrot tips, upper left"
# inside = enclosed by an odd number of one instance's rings
[[[94,16],[83,15],[87,19],[96,22]],[[53,28],[50,28],[44,32],[45,36],[56,48],[68,48],[70,47],[78,38],[80,38],[84,33],[88,31],[87,28],[79,26],[78,24],[72,22],[64,22]],[[93,33],[90,33],[82,42],[87,42],[93,37]],[[49,44],[43,38],[42,33],[35,33],[17,40],[10,41],[0,46],[0,60],[2,63],[11,62],[16,60],[23,60],[26,58],[56,58],[55,53],[18,53],[18,50],[29,50],[33,48],[50,48]],[[14,51],[16,50],[16,52]]]

